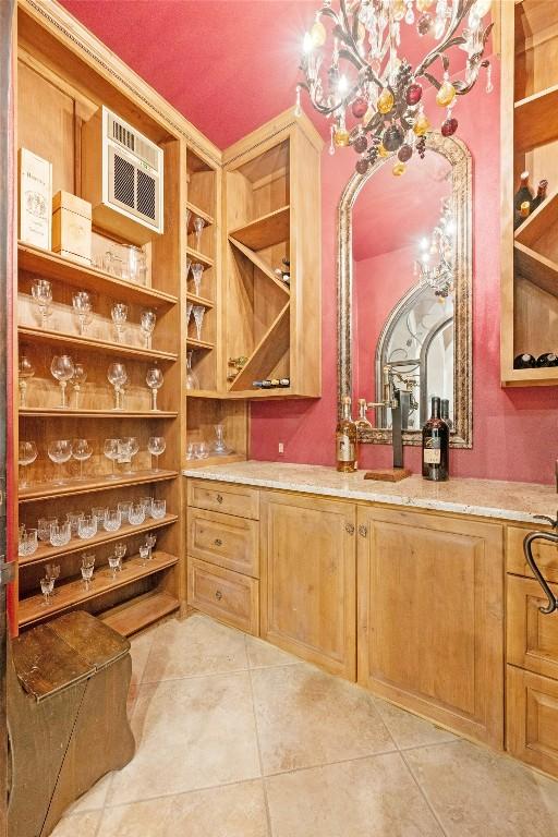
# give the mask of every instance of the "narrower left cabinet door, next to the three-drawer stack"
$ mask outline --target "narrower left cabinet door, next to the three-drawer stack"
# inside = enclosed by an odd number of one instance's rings
[[[355,679],[355,507],[262,493],[262,636]]]

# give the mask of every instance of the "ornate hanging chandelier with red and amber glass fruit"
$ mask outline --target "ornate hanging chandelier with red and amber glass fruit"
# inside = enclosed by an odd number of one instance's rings
[[[444,136],[456,133],[457,97],[474,87],[482,66],[486,90],[493,89],[489,61],[483,60],[493,27],[483,21],[492,0],[339,0],[338,10],[333,2],[323,0],[304,36],[295,112],[305,89],[313,107],[331,119],[330,154],[351,145],[356,171],[364,174],[378,157],[397,151],[393,174],[400,175],[415,151],[425,154],[430,121],[422,81],[436,88],[436,105],[445,109]],[[414,69],[398,54],[403,24],[436,41]],[[454,47],[466,56],[463,78],[450,78],[448,51]]]

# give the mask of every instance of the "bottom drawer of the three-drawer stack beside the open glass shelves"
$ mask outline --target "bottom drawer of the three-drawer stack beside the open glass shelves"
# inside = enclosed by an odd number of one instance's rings
[[[257,636],[259,582],[198,558],[189,558],[189,605]]]

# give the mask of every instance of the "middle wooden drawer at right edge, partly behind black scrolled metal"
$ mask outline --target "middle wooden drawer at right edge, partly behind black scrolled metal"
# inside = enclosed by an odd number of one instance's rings
[[[534,579],[508,575],[507,586],[508,663],[558,680],[558,612],[539,611],[547,599]]]

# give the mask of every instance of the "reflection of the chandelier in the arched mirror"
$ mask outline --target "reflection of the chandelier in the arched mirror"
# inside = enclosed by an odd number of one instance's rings
[[[421,255],[414,263],[414,275],[422,288],[433,288],[438,302],[444,302],[453,292],[453,241],[456,221],[450,198],[441,201],[441,215],[434,228],[430,240],[421,241]],[[432,264],[433,258],[436,264]]]

